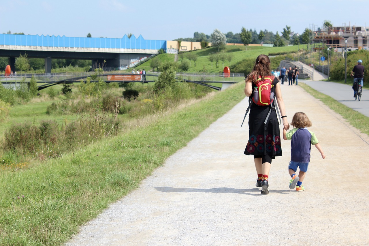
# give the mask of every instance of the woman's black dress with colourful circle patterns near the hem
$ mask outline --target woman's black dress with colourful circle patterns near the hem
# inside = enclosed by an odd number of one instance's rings
[[[279,80],[273,80],[272,91]],[[252,92],[254,92],[255,84],[252,83]],[[251,95],[254,95],[252,93]],[[252,96],[250,97],[252,99]],[[272,107],[273,105],[273,107]],[[250,107],[249,114],[249,140],[245,148],[245,155],[263,156],[268,155],[272,159],[276,156],[282,156],[282,148],[280,146],[280,130],[277,118],[275,103],[269,106],[258,106],[253,103]],[[264,124],[269,110],[270,115],[266,124]]]

